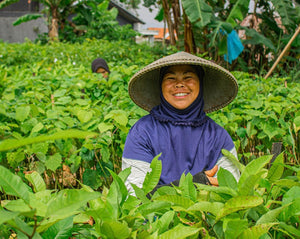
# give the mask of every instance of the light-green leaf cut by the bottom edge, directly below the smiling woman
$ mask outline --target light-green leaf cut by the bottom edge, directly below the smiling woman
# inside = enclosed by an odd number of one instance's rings
[[[172,238],[172,239],[181,239],[192,237],[197,235],[201,228],[195,227],[187,227],[182,224],[178,224],[177,226],[173,227],[172,229],[166,231],[165,233],[161,234],[158,238]]]

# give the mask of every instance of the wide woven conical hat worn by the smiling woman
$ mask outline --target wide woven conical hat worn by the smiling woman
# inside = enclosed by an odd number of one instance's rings
[[[160,104],[160,69],[172,65],[197,65],[204,70],[203,98],[206,113],[228,105],[236,97],[238,84],[235,77],[212,61],[179,52],[161,58],[138,71],[129,81],[129,96],[135,104],[146,111]]]

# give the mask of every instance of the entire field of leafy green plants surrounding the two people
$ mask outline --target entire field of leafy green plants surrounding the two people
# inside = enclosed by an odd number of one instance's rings
[[[289,77],[233,72],[238,97],[210,114],[234,139],[238,183],[220,170],[219,187],[194,187],[188,174],[148,198],[161,170],[155,159],[137,197],[129,195],[122,148],[146,112],[127,84],[174,51],[89,39],[0,43],[0,237],[300,237],[300,89]],[[107,59],[108,81],[91,73],[96,57]],[[270,164],[274,142],[283,152]]]

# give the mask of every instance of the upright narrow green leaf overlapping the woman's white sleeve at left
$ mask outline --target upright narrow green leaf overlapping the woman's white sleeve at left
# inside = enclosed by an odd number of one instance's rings
[[[155,186],[158,184],[161,174],[162,164],[158,159],[161,154],[155,156],[150,164],[151,172],[147,172],[144,183],[143,183],[143,191],[145,194],[151,192]]]

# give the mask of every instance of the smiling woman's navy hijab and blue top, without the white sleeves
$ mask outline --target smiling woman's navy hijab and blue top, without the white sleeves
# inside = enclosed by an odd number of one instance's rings
[[[123,157],[151,163],[161,153],[159,184],[178,180],[182,173],[195,175],[212,169],[222,157],[221,150],[234,147],[227,131],[203,111],[202,75],[198,76],[199,95],[189,107],[174,108],[161,92],[160,105],[141,118],[127,136]]]

